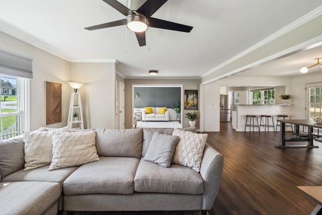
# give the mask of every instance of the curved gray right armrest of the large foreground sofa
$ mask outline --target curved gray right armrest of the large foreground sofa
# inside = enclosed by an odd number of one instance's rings
[[[200,174],[204,181],[202,210],[210,210],[215,201],[223,168],[223,156],[206,144],[202,157]]]

